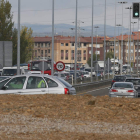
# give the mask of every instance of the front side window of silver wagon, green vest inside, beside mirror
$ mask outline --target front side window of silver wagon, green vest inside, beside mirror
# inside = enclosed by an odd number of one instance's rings
[[[11,79],[5,86],[7,90],[11,89],[23,89],[23,85],[25,83],[26,77],[16,77]]]

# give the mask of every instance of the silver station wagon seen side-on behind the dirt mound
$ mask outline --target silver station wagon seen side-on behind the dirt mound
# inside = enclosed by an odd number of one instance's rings
[[[70,94],[76,95],[75,88],[65,80],[45,74],[12,76],[2,83],[0,94]]]

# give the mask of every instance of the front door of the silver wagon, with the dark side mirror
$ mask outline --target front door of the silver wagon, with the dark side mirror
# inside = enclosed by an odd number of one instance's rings
[[[0,90],[0,94],[20,94],[23,91],[25,81],[26,76],[12,78]]]

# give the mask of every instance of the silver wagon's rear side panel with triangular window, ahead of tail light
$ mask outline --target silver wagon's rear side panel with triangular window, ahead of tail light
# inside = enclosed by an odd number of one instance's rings
[[[50,79],[48,77],[44,77],[47,82],[48,90],[50,94],[64,94],[64,88],[55,80]]]

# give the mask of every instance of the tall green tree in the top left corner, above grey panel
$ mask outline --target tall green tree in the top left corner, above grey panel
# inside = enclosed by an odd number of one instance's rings
[[[0,41],[10,41],[12,37],[13,15],[9,1],[1,0],[0,3]]]

